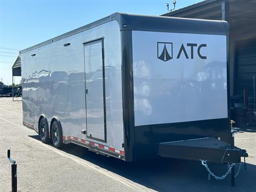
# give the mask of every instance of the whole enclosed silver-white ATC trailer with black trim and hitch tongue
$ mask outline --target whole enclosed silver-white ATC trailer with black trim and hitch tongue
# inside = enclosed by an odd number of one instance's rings
[[[23,124],[124,161],[239,163],[225,21],[114,13],[20,52]]]

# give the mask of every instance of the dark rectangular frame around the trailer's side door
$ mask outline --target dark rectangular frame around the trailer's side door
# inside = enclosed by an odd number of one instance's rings
[[[104,37],[92,39],[83,43],[83,49],[87,44],[97,44],[101,42],[101,55],[102,55],[102,89],[103,89],[103,115],[104,115],[104,139],[90,137],[88,135],[87,126],[87,103],[86,103],[86,71],[85,71],[85,51],[84,51],[84,85],[85,85],[85,119],[86,119],[86,138],[93,139],[96,141],[107,142],[107,121],[106,121],[106,90],[105,90],[105,54],[104,54]]]

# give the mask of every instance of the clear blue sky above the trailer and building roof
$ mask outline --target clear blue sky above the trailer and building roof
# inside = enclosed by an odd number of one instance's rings
[[[202,0],[177,0],[176,9]],[[172,0],[0,0],[0,81],[11,84],[18,51],[114,12],[161,15]],[[15,78],[19,83],[20,78]]]

